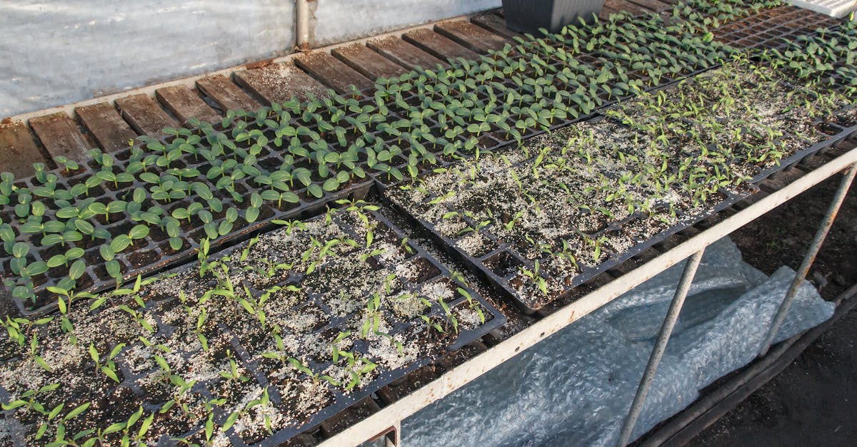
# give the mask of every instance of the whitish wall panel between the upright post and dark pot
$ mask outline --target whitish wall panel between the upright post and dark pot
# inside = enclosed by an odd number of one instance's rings
[[[358,39],[446,17],[499,8],[500,0],[319,0],[316,46]]]

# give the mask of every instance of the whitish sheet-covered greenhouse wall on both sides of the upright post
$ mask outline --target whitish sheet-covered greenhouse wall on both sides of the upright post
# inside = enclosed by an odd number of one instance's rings
[[[500,0],[317,0],[314,45]],[[291,52],[292,0],[2,0],[0,117]]]

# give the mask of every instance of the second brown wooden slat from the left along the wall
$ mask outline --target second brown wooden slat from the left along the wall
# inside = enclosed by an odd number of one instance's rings
[[[51,157],[83,161],[89,157],[87,152],[93,148],[75,121],[65,112],[30,118],[30,127]]]

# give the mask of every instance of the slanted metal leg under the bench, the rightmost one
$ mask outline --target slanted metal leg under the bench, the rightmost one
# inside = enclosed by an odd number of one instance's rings
[[[830,202],[830,207],[827,209],[827,213],[824,214],[824,219],[822,219],[821,225],[818,227],[818,231],[812,239],[812,243],[809,248],[806,249],[806,255],[804,255],[803,262],[800,263],[798,271],[794,273],[794,279],[788,287],[788,292],[786,293],[785,298],[782,299],[780,308],[777,309],[776,316],[770,324],[768,336],[764,338],[764,342],[758,350],[759,357],[763,357],[765,354],[768,354],[770,344],[774,342],[776,332],[780,330],[782,321],[786,319],[786,313],[788,313],[788,309],[792,307],[794,296],[797,295],[800,284],[803,283],[806,278],[806,274],[809,273],[809,269],[812,267],[812,262],[815,261],[815,257],[818,255],[818,250],[821,249],[821,244],[824,243],[824,238],[827,237],[830,227],[833,226],[833,221],[836,219],[836,212],[839,212],[839,207],[842,206],[842,202],[845,200],[845,195],[848,194],[848,188],[851,187],[851,182],[854,182],[854,174],[857,174],[857,164],[852,164],[848,167],[848,171],[846,171],[845,175],[842,176],[842,182],[839,183],[839,189],[836,190],[836,194],[833,196],[833,201]]]

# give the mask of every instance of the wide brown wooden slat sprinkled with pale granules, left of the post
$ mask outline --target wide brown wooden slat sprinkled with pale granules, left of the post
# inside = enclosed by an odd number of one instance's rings
[[[292,63],[274,63],[261,69],[239,71],[235,80],[262,104],[283,103],[292,97],[306,99],[308,93],[321,96],[327,91],[327,87]]]

